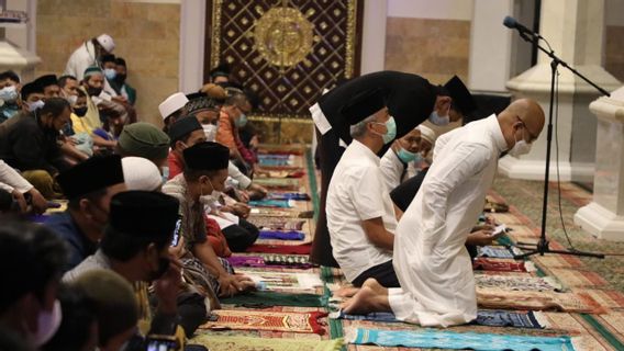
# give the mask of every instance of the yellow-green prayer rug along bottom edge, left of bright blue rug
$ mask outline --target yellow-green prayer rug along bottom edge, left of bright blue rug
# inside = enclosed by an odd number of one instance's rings
[[[188,344],[201,344],[210,351],[339,351],[342,339],[267,339],[243,336],[199,335]]]

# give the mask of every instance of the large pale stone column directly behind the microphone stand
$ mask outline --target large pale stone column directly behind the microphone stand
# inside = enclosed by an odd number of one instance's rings
[[[539,34],[555,54],[608,91],[621,86],[601,67],[604,32],[604,0],[543,0]],[[517,35],[517,34],[514,34]],[[542,42],[544,44],[544,42]],[[559,139],[559,170],[562,181],[591,181],[594,172],[595,118],[589,103],[600,93],[582,79],[559,67],[559,117],[554,118],[550,179],[557,174],[555,131]],[[539,102],[548,118],[550,58],[541,53],[538,63],[506,84],[514,98]],[[543,180],[546,131],[522,158],[506,156],[499,162],[510,178]]]

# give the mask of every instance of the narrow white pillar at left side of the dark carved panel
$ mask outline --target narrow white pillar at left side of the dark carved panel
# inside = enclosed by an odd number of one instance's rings
[[[180,8],[179,89],[190,93],[203,84],[205,1],[182,0]]]

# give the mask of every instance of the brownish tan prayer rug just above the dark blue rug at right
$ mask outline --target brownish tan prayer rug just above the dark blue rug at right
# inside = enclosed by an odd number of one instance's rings
[[[603,307],[583,293],[521,292],[477,287],[477,303],[480,307],[490,309],[604,313]]]

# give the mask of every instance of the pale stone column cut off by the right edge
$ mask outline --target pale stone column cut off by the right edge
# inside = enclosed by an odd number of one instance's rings
[[[593,201],[575,224],[608,240],[624,241],[624,87],[590,104],[598,117]]]

